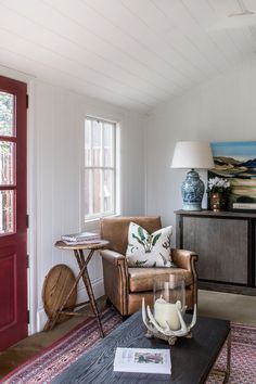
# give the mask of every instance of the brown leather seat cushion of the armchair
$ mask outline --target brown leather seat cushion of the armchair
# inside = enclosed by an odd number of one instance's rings
[[[153,291],[154,278],[161,274],[179,274],[185,286],[193,283],[191,272],[182,268],[128,268],[130,292]]]

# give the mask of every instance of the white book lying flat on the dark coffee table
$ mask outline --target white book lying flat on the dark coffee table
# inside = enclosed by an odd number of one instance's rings
[[[114,371],[170,374],[170,350],[117,347]]]

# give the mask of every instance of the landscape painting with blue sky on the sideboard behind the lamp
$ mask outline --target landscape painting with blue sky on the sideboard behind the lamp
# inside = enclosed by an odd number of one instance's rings
[[[256,141],[212,143],[215,168],[208,178],[222,177],[231,183],[230,209],[256,210]]]

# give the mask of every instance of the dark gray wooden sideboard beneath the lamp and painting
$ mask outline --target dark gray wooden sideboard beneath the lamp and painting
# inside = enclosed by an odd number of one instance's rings
[[[199,254],[200,287],[256,295],[256,214],[175,214],[176,247]]]

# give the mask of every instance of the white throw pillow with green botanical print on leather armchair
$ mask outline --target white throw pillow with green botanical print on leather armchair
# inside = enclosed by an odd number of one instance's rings
[[[130,222],[126,258],[129,267],[171,267],[170,236],[172,227],[154,233]]]

